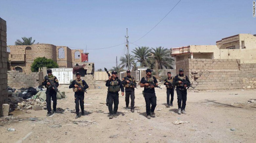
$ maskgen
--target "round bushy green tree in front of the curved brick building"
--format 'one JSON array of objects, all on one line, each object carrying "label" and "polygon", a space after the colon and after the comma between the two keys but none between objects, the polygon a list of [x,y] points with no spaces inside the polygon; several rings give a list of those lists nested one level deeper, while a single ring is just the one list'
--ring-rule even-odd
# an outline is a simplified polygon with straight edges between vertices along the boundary
[{"label": "round bushy green tree in front of the curved brick building", "polygon": [[42,68],[42,67],[58,68],[59,66],[52,59],[48,59],[46,57],[37,57],[34,59],[33,63],[31,64],[31,71],[38,72],[39,68]]}]

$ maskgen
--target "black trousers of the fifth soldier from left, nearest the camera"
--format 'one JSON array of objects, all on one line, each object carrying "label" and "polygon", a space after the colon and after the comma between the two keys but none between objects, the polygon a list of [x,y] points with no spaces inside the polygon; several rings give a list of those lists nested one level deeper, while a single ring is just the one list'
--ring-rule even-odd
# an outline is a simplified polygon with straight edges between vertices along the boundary
[{"label": "black trousers of the fifth soldier from left, nearest the camera", "polygon": [[[146,113],[147,115],[150,115],[150,112],[154,112],[157,106],[156,93],[144,92],[144,96],[145,96],[145,102],[146,102]],[[151,104],[151,108],[150,108],[150,104]]]}]

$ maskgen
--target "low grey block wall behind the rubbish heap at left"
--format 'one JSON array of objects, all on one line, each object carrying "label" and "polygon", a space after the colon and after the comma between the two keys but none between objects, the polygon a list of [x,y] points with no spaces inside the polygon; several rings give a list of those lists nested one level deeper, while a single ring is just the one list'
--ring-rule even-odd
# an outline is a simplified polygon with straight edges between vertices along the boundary
[{"label": "low grey block wall behind the rubbish heap at left", "polygon": [[8,71],[8,86],[19,89],[21,87],[38,87],[42,84],[43,72],[25,74],[19,71]]}]

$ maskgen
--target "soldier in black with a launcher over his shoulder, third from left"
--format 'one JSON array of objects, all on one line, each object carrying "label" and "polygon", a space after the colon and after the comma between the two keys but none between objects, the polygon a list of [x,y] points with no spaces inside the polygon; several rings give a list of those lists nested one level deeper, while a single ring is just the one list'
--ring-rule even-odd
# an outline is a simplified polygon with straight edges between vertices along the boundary
[{"label": "soldier in black with a launcher over his shoulder, third from left", "polygon": [[[122,92],[122,96],[124,96],[124,88],[122,82],[117,77],[117,72],[112,71],[112,76],[109,76],[109,80],[106,81],[106,87],[108,87],[108,110],[109,110],[109,119],[113,119],[113,117],[117,118],[117,109],[119,104],[119,94],[118,92]],[[113,102],[114,102],[114,111],[113,111]]]}]

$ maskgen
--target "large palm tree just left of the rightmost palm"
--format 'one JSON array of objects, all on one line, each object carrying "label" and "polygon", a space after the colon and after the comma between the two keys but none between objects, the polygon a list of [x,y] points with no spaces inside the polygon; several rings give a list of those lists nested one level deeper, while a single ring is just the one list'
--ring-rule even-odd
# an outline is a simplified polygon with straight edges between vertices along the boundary
[{"label": "large palm tree just left of the rightmost palm", "polygon": [[140,62],[141,67],[149,67],[152,60],[150,58],[151,56],[151,49],[149,47],[139,47],[135,48],[135,50],[132,51],[135,54],[135,58]]}]

